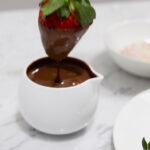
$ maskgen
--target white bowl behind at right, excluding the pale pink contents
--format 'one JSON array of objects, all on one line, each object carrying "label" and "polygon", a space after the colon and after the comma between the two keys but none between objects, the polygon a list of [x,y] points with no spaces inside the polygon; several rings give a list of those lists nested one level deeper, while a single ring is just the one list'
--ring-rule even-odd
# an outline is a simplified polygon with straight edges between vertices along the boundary
[{"label": "white bowl behind at right, excluding the pale pink contents", "polygon": [[126,21],[111,27],[105,36],[109,52],[118,66],[141,77],[150,77],[150,62],[120,54],[124,46],[150,39],[150,21]]}]

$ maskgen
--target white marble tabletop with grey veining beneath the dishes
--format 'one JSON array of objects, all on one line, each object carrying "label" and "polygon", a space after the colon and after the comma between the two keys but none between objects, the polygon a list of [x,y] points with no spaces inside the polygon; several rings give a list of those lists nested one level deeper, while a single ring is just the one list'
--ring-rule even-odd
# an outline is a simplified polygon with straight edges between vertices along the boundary
[{"label": "white marble tabletop with grey veining beneath the dishes", "polygon": [[121,108],[150,87],[149,79],[132,76],[108,56],[103,41],[106,29],[127,19],[149,19],[150,2],[99,3],[97,20],[72,56],[84,59],[104,74],[94,122],[68,136],[51,136],[32,129],[18,111],[18,85],[24,65],[44,50],[37,26],[37,10],[0,13],[0,150],[114,150],[112,128]]}]

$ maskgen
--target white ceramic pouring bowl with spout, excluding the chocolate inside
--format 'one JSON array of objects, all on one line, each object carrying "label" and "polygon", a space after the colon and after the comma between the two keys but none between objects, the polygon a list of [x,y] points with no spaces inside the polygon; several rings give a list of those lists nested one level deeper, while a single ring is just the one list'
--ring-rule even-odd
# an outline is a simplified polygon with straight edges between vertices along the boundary
[{"label": "white ceramic pouring bowl with spout, excluding the chocolate inside", "polygon": [[102,75],[93,71],[97,77],[82,84],[51,88],[34,83],[26,72],[25,68],[19,89],[19,103],[24,119],[32,127],[58,135],[76,132],[89,124],[99,100]]}]

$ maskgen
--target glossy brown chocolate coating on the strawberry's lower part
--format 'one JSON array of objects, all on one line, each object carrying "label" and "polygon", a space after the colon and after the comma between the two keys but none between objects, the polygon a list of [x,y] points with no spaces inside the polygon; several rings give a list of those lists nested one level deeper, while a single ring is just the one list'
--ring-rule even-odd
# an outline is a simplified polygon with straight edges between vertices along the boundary
[{"label": "glossy brown chocolate coating on the strawberry's lower part", "polygon": [[54,29],[44,26],[39,21],[39,29],[44,49],[47,55],[60,61],[70,53],[88,27],[75,29]]}]

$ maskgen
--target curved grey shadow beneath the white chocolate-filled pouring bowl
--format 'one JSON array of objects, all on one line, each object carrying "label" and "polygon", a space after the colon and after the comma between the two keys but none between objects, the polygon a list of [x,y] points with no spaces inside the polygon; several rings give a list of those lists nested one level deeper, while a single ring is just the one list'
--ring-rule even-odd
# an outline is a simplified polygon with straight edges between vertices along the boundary
[{"label": "curved grey shadow beneath the white chocolate-filled pouring bowl", "polygon": [[68,140],[72,140],[74,138],[78,138],[80,136],[83,136],[86,133],[86,128],[82,129],[81,131],[78,131],[76,133],[73,134],[68,134],[68,135],[50,135],[50,134],[45,134],[42,133],[34,128],[32,128],[22,117],[22,115],[18,112],[17,114],[17,124],[19,126],[19,128],[21,129],[22,132],[26,133],[27,135],[29,135],[32,138],[38,138],[40,140],[46,140],[46,141],[68,141]]}]

